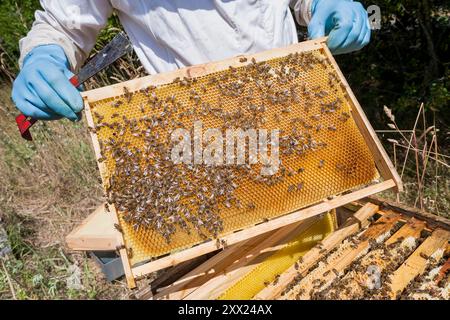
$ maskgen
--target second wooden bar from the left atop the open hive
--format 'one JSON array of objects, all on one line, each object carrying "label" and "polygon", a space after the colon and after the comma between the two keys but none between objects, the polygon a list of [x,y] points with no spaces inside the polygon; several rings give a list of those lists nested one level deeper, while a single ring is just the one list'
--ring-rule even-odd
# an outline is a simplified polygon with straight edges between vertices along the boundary
[{"label": "second wooden bar from the left atop the open hive", "polygon": [[[358,255],[370,247],[369,240],[383,237],[399,220],[400,215],[396,213],[389,212],[384,214],[358,237],[361,242],[356,247],[353,248],[349,243],[341,245],[336,252],[327,257],[326,264],[321,264],[309,272],[293,290],[283,296],[283,299],[309,299],[313,289],[323,290],[328,287]],[[323,282],[320,288],[315,288],[315,280]]]}]

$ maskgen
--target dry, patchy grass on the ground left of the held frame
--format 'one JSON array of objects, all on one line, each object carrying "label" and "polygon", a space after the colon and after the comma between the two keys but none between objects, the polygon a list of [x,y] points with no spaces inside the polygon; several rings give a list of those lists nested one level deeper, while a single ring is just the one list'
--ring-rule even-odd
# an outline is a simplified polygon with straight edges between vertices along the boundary
[{"label": "dry, patchy grass on the ground left of the held frame", "polygon": [[[84,121],[41,123],[25,142],[14,123],[10,87],[0,90],[0,225],[12,248],[0,268],[0,299],[126,297],[64,237],[102,202]],[[73,281],[70,281],[73,280]]]}]

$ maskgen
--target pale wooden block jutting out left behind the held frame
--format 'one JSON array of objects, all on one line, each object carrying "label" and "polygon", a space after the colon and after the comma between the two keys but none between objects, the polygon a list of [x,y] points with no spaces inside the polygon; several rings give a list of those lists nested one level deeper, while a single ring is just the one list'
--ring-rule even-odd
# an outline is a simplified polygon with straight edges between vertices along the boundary
[{"label": "pale wooden block jutting out left behind the held frame", "polygon": [[66,236],[71,250],[112,251],[117,247],[117,235],[111,218],[101,205]]}]

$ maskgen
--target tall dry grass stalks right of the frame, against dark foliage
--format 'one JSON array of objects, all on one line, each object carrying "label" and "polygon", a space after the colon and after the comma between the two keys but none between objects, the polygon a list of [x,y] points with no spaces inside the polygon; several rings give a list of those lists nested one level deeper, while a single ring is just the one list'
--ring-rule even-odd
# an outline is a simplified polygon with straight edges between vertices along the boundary
[{"label": "tall dry grass stalks right of the frame, against dark foliage", "polygon": [[[386,141],[392,147],[391,157],[405,186],[405,192],[397,195],[395,200],[449,217],[450,156],[439,146],[439,135],[446,133],[435,126],[435,114],[432,114],[433,123],[430,125],[430,117],[421,104],[414,126],[403,130],[388,107],[384,107],[384,112],[391,130],[384,130],[383,133],[388,136]],[[390,194],[385,196],[392,198]]]}]

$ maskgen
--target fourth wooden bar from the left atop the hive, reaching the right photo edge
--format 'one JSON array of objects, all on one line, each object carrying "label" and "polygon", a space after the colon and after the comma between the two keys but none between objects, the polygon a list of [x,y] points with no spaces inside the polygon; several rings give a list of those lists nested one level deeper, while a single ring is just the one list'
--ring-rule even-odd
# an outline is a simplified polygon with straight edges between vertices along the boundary
[{"label": "fourth wooden bar from the left atop the hive, reaching the right photo edge", "polygon": [[433,255],[436,251],[444,250],[450,239],[450,232],[443,229],[433,231],[414,253],[391,275],[390,297],[395,299],[406,286],[418,275],[421,275],[427,267],[426,256]]}]

